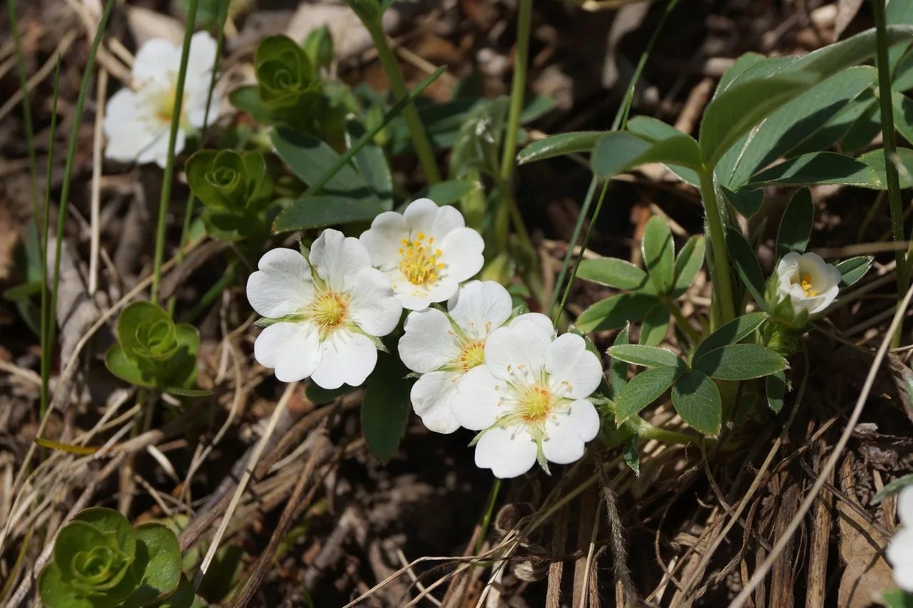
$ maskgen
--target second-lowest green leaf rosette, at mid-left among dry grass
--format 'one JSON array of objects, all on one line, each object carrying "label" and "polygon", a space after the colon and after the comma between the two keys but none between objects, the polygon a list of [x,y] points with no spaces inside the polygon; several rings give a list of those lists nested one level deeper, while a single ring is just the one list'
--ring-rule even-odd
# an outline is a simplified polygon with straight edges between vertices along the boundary
[{"label": "second-lowest green leaf rosette, at mid-left among dry grass", "polygon": [[188,396],[196,378],[200,334],[189,323],[175,323],[152,302],[133,302],[117,320],[118,343],[105,353],[105,364],[121,380]]}]

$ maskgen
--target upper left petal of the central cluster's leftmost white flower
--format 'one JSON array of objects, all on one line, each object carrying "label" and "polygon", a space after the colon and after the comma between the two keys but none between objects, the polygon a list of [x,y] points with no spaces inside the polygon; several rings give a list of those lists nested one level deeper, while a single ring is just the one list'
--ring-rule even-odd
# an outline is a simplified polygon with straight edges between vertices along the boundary
[{"label": "upper left petal of the central cluster's leftmost white flower", "polygon": [[310,305],[314,286],[308,260],[294,249],[271,249],[260,258],[260,269],[247,279],[247,300],[257,314],[279,319]]}]

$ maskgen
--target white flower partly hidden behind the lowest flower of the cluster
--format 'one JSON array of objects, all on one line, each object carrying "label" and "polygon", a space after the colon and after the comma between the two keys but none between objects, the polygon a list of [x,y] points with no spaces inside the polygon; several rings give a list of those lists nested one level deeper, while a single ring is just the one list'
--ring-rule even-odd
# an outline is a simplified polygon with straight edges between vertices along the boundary
[{"label": "white flower partly hidden behind the lowest flower of the cluster", "polygon": [[488,334],[513,312],[508,290],[495,281],[470,281],[438,309],[414,310],[405,320],[399,342],[400,359],[421,377],[412,387],[412,406],[436,433],[459,428],[451,412],[456,386],[469,370],[481,365]]}]

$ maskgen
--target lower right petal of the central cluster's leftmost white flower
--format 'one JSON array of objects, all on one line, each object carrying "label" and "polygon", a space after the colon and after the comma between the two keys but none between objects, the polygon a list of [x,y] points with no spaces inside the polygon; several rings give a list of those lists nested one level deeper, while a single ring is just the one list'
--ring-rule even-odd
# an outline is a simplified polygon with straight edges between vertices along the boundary
[{"label": "lower right petal of the central cluster's leftmost white flower", "polygon": [[323,361],[310,379],[325,389],[342,384],[359,386],[367,380],[377,364],[377,348],[360,333],[335,330],[322,343]]}]

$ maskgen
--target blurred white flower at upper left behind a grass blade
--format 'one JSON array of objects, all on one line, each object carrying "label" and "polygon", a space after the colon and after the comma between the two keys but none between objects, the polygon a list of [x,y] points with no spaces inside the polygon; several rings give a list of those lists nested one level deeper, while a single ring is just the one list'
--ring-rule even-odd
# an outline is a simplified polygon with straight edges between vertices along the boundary
[{"label": "blurred white flower at upper left behind a grass blade", "polygon": [[[216,44],[208,32],[190,40],[181,126],[174,153],[184,150],[187,132],[203,127]],[[153,38],[140,47],[133,60],[133,89],[121,89],[108,100],[104,131],[108,138],[105,158],[121,162],[156,162],[165,166],[168,136],[174,109],[181,48],[163,38]],[[218,115],[215,99],[209,117]]]}]

